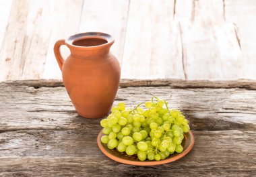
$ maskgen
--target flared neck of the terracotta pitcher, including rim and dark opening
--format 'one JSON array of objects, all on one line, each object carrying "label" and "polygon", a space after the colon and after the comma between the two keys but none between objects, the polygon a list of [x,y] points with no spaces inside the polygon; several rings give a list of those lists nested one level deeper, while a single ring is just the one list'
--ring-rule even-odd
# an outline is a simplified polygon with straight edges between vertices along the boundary
[{"label": "flared neck of the terracotta pitcher, including rim and dark opening", "polygon": [[99,32],[75,34],[65,40],[71,56],[78,58],[107,55],[114,42],[112,36]]}]

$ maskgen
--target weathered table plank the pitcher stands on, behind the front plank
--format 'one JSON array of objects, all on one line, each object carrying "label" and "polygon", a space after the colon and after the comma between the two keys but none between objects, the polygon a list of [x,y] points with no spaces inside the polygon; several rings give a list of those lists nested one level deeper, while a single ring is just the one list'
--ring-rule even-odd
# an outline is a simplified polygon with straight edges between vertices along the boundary
[{"label": "weathered table plank the pitcher stands on, behind the front plank", "polygon": [[[0,87],[2,132],[19,129],[83,129],[83,126],[93,126],[95,123],[75,113],[63,87],[36,89],[34,86],[11,83],[2,83]],[[125,101],[129,107],[134,107],[152,95],[166,98],[172,107],[181,109],[191,121],[192,129],[256,127],[256,91],[244,88],[124,87],[119,88],[115,103]]]}]

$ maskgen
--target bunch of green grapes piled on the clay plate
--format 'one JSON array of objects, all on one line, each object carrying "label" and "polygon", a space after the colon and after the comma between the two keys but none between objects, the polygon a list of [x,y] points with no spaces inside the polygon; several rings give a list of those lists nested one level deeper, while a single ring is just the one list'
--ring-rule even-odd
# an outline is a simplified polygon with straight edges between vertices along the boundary
[{"label": "bunch of green grapes piled on the clay plate", "polygon": [[[143,105],[145,108],[141,107]],[[119,103],[112,113],[100,121],[103,127],[102,143],[116,148],[139,160],[164,160],[174,152],[183,152],[184,135],[189,131],[189,121],[181,111],[168,109],[165,100],[152,97],[135,107],[126,109]]]}]

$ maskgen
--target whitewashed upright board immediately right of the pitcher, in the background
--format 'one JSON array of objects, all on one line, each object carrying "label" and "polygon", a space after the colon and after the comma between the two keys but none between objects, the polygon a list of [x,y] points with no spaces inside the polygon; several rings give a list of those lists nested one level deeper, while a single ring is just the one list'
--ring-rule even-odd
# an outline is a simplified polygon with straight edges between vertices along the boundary
[{"label": "whitewashed upright board immediately right of the pitcher, in the background", "polygon": [[131,0],[122,78],[185,78],[173,9],[174,1]]}]

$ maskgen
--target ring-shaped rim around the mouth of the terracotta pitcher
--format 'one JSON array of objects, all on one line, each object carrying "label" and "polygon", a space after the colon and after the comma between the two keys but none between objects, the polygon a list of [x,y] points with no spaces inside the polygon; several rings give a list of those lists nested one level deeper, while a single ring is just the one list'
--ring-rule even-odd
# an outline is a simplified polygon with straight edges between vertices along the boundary
[{"label": "ring-shaped rim around the mouth of the terracotta pitcher", "polygon": [[[97,46],[76,46],[73,44],[78,40],[88,39],[88,38],[106,40],[106,43],[100,44]],[[106,34],[102,32],[85,32],[85,33],[74,34],[72,36],[69,36],[69,38],[65,40],[65,44],[69,48],[75,48],[78,50],[84,50],[84,49],[92,50],[92,49],[105,48],[106,46],[111,46],[114,42],[115,40],[110,34]]]}]

